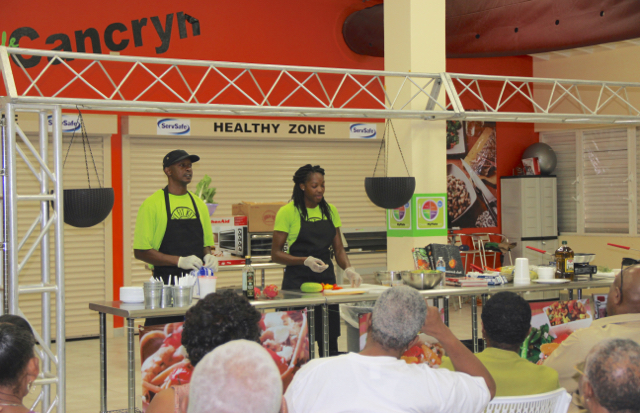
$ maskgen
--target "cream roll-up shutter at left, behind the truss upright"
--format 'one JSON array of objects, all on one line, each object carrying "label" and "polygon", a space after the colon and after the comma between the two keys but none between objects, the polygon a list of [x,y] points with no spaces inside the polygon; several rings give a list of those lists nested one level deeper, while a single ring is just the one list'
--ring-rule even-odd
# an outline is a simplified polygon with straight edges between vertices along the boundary
[{"label": "cream roll-up shutter at left, behind the truss upright", "polygon": [[[39,139],[30,136],[32,144],[38,148]],[[103,150],[103,137],[92,136],[89,138],[91,144],[91,153],[95,159],[97,172],[100,175],[100,181],[105,185],[105,154]],[[64,153],[71,141],[71,136],[65,134],[63,137]],[[26,145],[18,144],[27,154],[30,162],[39,170],[38,162],[31,155]],[[51,159],[53,151],[52,145],[49,143],[49,165],[53,165]],[[89,148],[86,148],[87,162],[89,172],[91,174],[91,187],[98,187],[96,173],[91,161]],[[71,146],[67,161],[64,167],[63,183],[65,189],[88,188],[87,172],[85,166],[85,152],[83,150],[82,139],[76,136]],[[29,171],[27,165],[22,161],[17,162],[18,176],[17,185],[18,193],[34,194],[39,191],[39,183]],[[110,182],[110,181],[109,181]],[[34,219],[40,213],[40,204],[35,202],[19,202],[18,207],[18,240],[22,240],[27,233]],[[107,263],[107,236],[106,226],[107,220],[91,228],[75,228],[64,225],[64,263],[65,263],[65,319],[67,338],[97,336],[98,331],[98,314],[89,310],[90,302],[99,302],[105,300],[105,289],[107,279],[111,280],[111,265]],[[39,228],[39,226],[38,226]],[[31,244],[37,238],[38,231],[34,231],[31,237],[23,246],[19,253],[19,259],[22,260]],[[111,251],[111,248],[108,248]],[[53,265],[54,258],[53,233],[50,234],[50,256],[51,256],[51,281],[55,282],[55,269]],[[20,284],[36,284],[41,282],[40,271],[40,248],[34,252],[32,258],[20,272]],[[110,260],[109,260],[110,261]],[[107,265],[108,264],[108,265]],[[109,281],[110,282],[110,281]],[[20,295],[20,309],[29,319],[29,321],[40,331],[41,329],[41,298],[40,294],[23,294]],[[51,299],[55,303],[53,295]],[[55,306],[51,306],[52,334],[55,334]]]}]

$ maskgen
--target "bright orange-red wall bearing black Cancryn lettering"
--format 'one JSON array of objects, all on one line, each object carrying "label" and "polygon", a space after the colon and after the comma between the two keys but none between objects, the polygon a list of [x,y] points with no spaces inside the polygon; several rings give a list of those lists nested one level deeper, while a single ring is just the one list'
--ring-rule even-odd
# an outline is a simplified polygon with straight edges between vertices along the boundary
[{"label": "bright orange-red wall bearing black Cancryn lettering", "polygon": [[[25,28],[23,33],[37,33],[39,37],[33,40],[22,37],[19,41],[21,48],[53,49],[62,46],[68,38],[67,46],[71,51],[78,51],[80,44],[80,48],[93,52],[90,38],[80,43],[76,40],[76,33],[82,37],[91,33],[89,29],[93,28],[101,53],[110,52],[109,43],[112,49],[120,49],[118,51],[122,55],[382,70],[383,58],[353,53],[344,43],[341,32],[346,16],[379,3],[382,0],[18,1],[10,5],[10,13],[0,14],[0,31],[5,31],[7,38],[19,28]],[[180,23],[179,12],[199,20],[199,35],[194,35],[191,24]],[[172,30],[163,47],[156,26],[161,31],[166,30],[167,16],[172,16],[169,17]],[[144,19],[146,25],[142,26]],[[154,25],[153,21],[157,24]],[[186,29],[182,38],[181,24]],[[141,27],[137,46],[135,25]],[[108,28],[117,30],[106,35]],[[47,44],[47,39],[50,44]],[[36,68],[44,64],[43,59]],[[447,71],[461,73],[532,76],[532,67],[530,57],[447,60]],[[14,70],[17,69],[14,65]],[[40,85],[46,87],[46,79],[42,79]],[[0,89],[3,87],[1,85]],[[499,90],[493,90],[485,97],[496,98],[498,93]],[[473,104],[472,101],[466,103]],[[517,109],[523,105],[526,107],[527,103],[516,100],[511,107]],[[499,123],[497,138],[499,176],[510,175],[524,149],[538,141],[532,124]],[[112,180],[116,191],[113,212],[114,299],[118,299],[118,287],[123,282],[122,147],[119,134],[113,137],[111,149]],[[116,327],[121,325],[117,320]]]}]

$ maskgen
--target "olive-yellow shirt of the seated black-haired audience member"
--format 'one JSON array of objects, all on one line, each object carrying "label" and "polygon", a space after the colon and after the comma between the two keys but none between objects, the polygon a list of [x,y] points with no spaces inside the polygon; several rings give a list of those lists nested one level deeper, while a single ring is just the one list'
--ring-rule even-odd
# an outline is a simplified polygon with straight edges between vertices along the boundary
[{"label": "olive-yellow shirt of the seated black-haired audience member", "polygon": [[[489,347],[476,357],[496,382],[496,397],[528,396],[560,388],[557,371],[533,364],[514,351]],[[442,358],[440,368],[455,371],[449,357]]]}]

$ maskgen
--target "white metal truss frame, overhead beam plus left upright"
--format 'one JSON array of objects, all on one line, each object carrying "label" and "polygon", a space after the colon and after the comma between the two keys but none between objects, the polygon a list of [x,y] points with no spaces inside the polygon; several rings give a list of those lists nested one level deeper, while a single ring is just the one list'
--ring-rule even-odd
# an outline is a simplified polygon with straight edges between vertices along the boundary
[{"label": "white metal truss frame, overhead beam plus left upright", "polygon": [[[23,56],[37,58],[25,69]],[[12,66],[13,60],[15,66]],[[571,124],[638,124],[640,110],[630,95],[640,83],[559,80],[455,73],[403,73],[321,67],[281,66],[202,60],[159,59],[44,51],[0,46],[4,183],[4,269],[6,311],[21,314],[19,296],[42,295],[43,360],[38,379],[42,411],[65,411],[64,246],[61,109],[204,114],[416,120],[483,120]],[[389,92],[386,85],[393,85]],[[497,89],[496,89],[497,88]],[[499,90],[499,96],[494,96]],[[524,108],[509,111],[510,105]],[[39,152],[14,119],[16,111],[39,113]],[[53,170],[47,165],[47,114],[53,116]],[[32,165],[17,138],[38,160]],[[20,156],[39,180],[38,194],[18,194]],[[39,170],[38,170],[39,168]],[[49,185],[53,185],[53,194]],[[40,202],[40,216],[20,242],[18,202]],[[49,216],[49,202],[54,212]],[[40,226],[22,262],[18,252]],[[50,231],[55,231],[55,283],[49,273]],[[20,285],[19,273],[40,245],[42,282]],[[1,266],[1,265],[0,265]],[[56,294],[56,354],[51,350],[51,293]],[[0,311],[1,313],[2,311]],[[52,367],[53,366],[53,367]],[[51,384],[57,384],[51,401]]]}]

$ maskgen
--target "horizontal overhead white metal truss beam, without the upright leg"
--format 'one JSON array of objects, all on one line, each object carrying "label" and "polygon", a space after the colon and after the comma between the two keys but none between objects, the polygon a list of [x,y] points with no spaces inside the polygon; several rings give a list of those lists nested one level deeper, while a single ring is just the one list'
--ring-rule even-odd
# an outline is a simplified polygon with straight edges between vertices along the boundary
[{"label": "horizontal overhead white metal truss beam, without the upright leg", "polygon": [[[27,70],[23,55],[41,61]],[[640,92],[640,83],[630,82],[280,66],[4,46],[0,46],[0,70],[12,102],[63,108],[228,116],[640,123],[640,110],[629,98]],[[388,93],[385,84],[392,82],[399,87]],[[488,98],[495,95],[490,90],[499,90],[499,96]],[[525,109],[509,111],[513,103]]]}]

